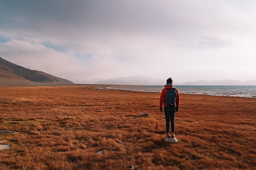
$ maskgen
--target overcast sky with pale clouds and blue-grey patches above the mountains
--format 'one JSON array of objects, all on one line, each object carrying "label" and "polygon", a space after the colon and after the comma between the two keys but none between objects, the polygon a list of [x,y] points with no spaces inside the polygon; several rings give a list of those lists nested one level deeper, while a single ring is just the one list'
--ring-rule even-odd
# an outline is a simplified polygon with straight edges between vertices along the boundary
[{"label": "overcast sky with pale clouds and blue-grey patches above the mountains", "polygon": [[0,57],[71,81],[256,79],[255,0],[0,0]]}]

